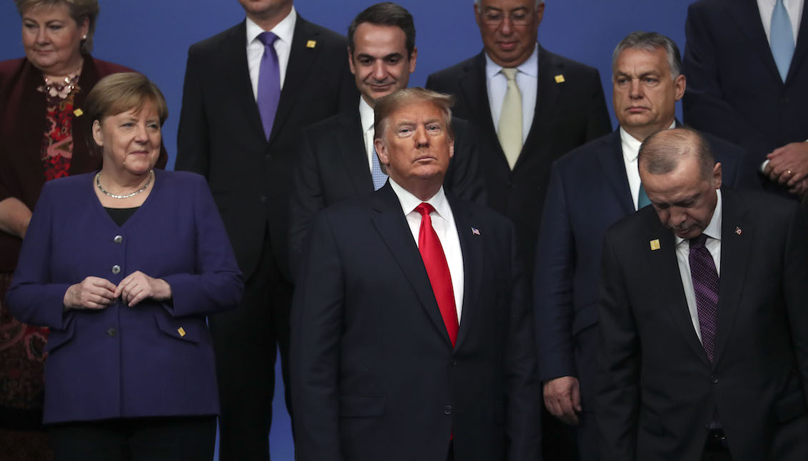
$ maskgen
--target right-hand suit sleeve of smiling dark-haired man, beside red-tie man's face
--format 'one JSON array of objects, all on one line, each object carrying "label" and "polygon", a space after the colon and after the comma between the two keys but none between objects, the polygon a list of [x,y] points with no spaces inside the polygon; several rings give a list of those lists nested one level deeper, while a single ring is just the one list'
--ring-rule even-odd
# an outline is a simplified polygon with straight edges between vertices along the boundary
[{"label": "right-hand suit sleeve of smiling dark-haired man, beside red-tie man's face", "polygon": [[470,126],[467,121],[455,119],[455,151],[444,186],[457,197],[485,205],[486,191],[480,171],[477,136]]}]

